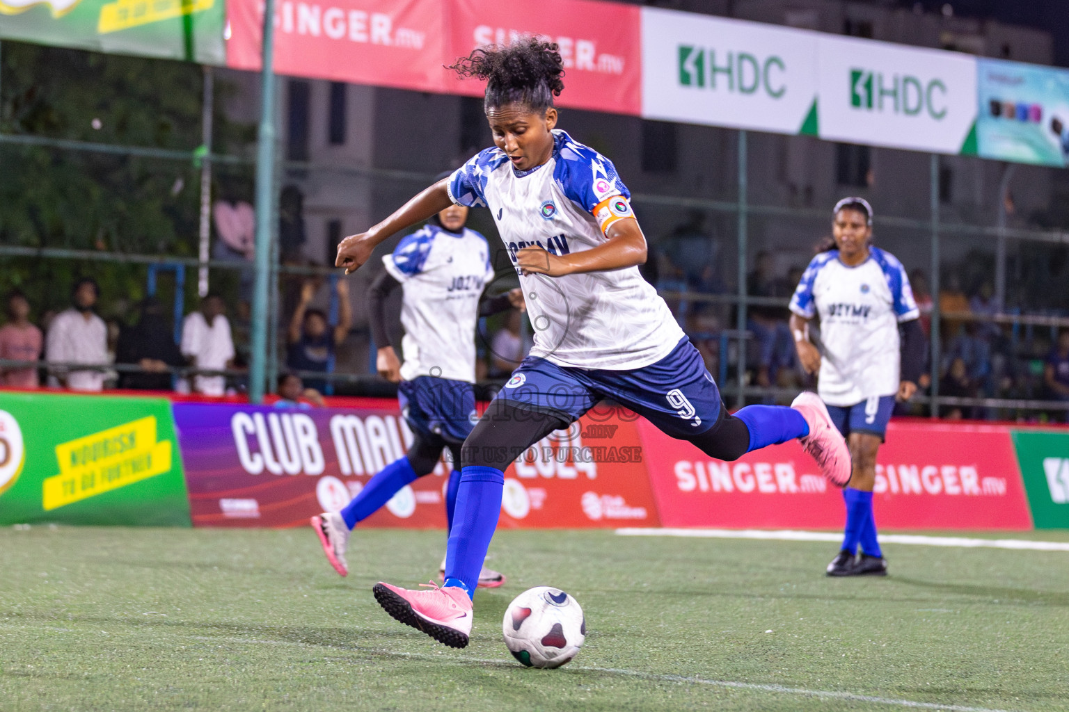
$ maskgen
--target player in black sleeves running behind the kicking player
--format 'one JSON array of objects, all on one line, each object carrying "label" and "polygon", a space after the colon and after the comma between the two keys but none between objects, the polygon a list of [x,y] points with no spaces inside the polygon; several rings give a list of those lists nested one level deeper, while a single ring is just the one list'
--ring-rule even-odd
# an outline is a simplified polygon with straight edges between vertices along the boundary
[{"label": "player in black sleeves running behind the kicking player", "polygon": [[[467,207],[450,205],[432,216],[425,227],[403,238],[392,254],[383,257],[386,270],[371,285],[371,330],[378,344],[376,367],[383,378],[398,383],[398,400],[413,432],[413,444],[404,457],[368,480],[341,511],[312,517],[323,552],[343,576],[348,573],[345,550],[353,527],[400,489],[433,472],[447,447],[453,471],[446,486],[446,519],[452,527],[461,481],[461,445],[477,417],[471,389],[476,322],[480,316],[524,306],[520,289],[480,304],[479,297],[493,281],[494,269],[486,238],[464,226],[467,215]],[[387,327],[397,321],[396,314],[387,317],[387,304],[398,288],[403,290],[403,364],[390,345]],[[445,568],[443,560],[443,571]],[[502,583],[503,575],[486,568],[477,581],[487,588]]]}]

